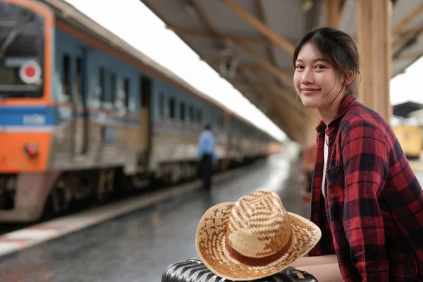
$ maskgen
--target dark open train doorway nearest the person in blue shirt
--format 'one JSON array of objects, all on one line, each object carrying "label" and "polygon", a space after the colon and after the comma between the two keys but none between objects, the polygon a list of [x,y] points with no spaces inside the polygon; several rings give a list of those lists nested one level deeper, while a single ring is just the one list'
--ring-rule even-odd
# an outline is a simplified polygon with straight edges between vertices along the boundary
[{"label": "dark open train doorway nearest the person in blue shirt", "polygon": [[142,150],[142,166],[147,169],[149,164],[149,152],[151,147],[151,96],[152,81],[145,77],[140,77],[140,134],[141,134],[141,150]]}]

